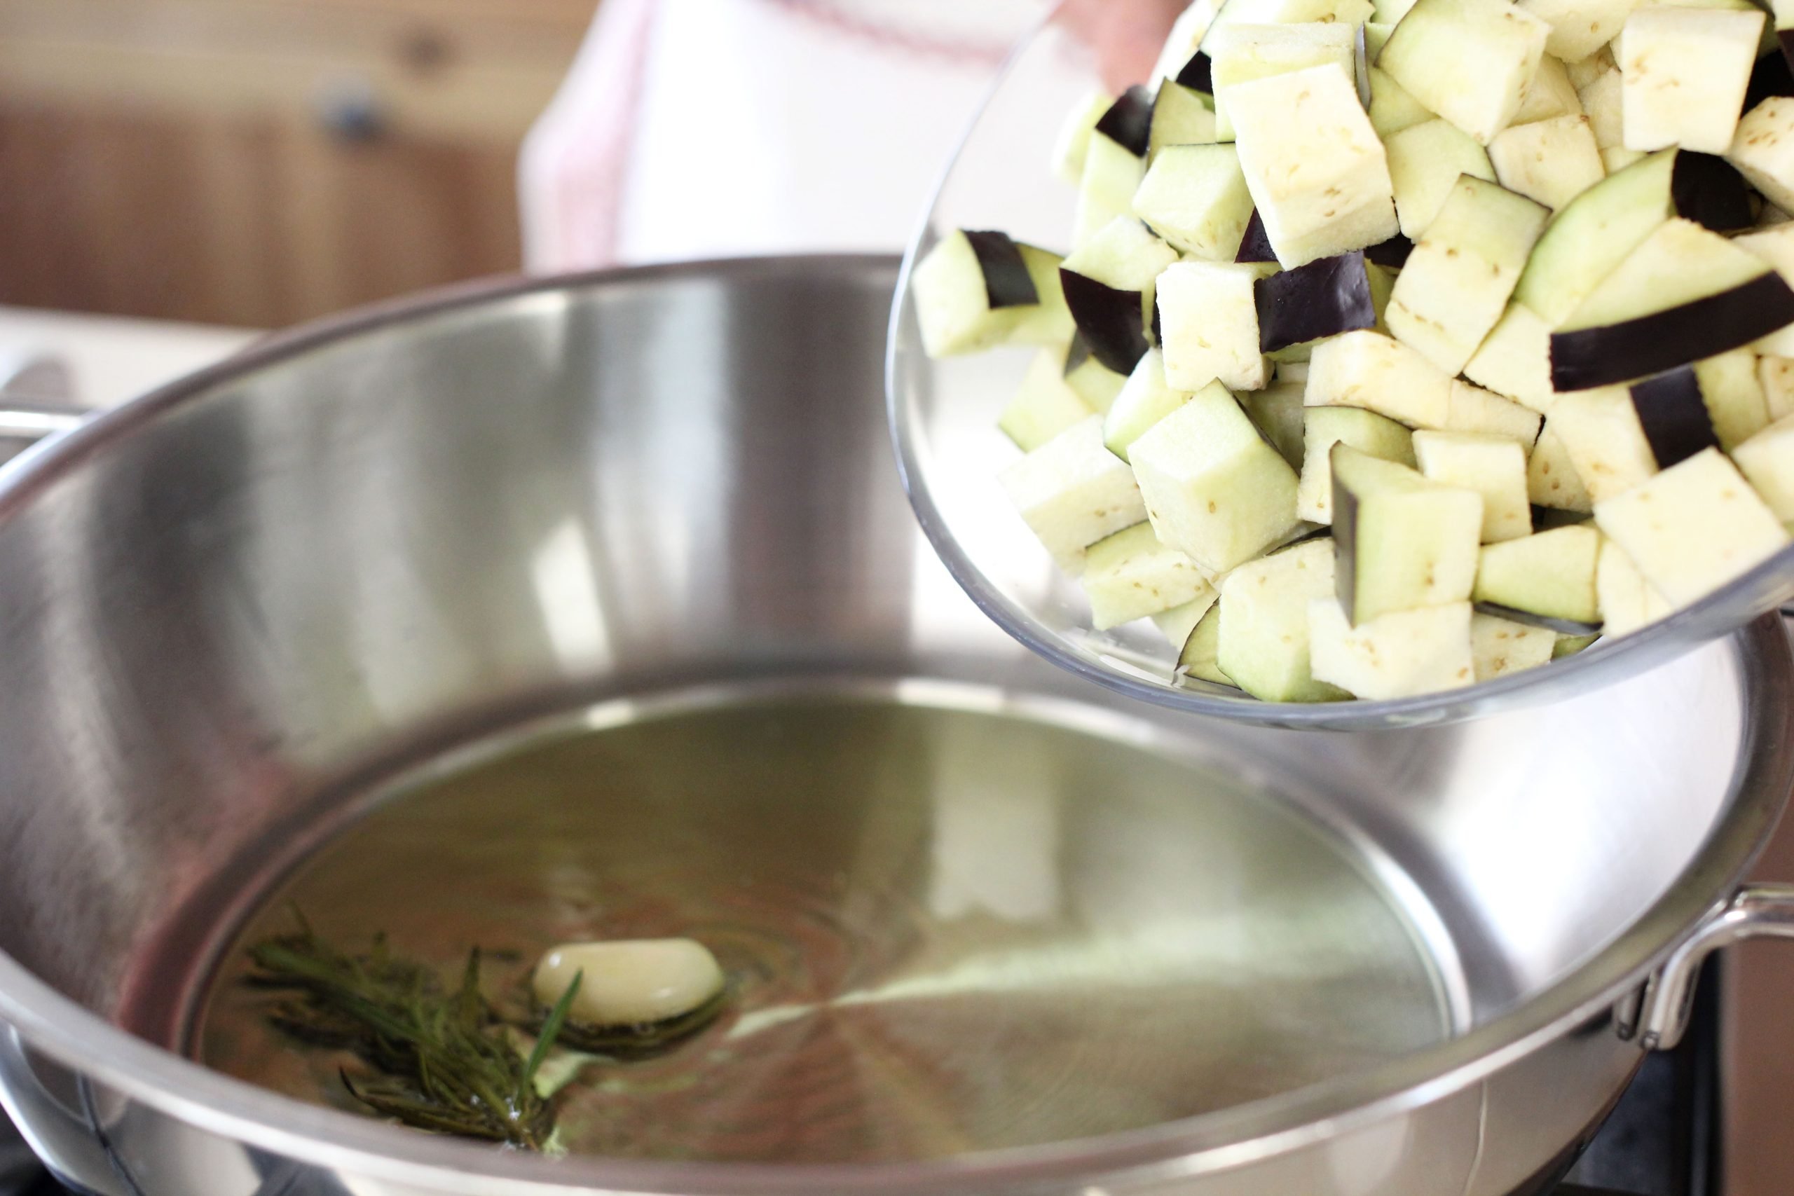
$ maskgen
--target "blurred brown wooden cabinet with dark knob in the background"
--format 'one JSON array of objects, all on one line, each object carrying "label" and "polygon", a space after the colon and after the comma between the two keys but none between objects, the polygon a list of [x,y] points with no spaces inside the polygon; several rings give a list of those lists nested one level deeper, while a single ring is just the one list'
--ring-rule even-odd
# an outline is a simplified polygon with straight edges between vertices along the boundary
[{"label": "blurred brown wooden cabinet with dark knob in the background", "polygon": [[596,0],[0,0],[0,303],[280,326],[513,271]]}]

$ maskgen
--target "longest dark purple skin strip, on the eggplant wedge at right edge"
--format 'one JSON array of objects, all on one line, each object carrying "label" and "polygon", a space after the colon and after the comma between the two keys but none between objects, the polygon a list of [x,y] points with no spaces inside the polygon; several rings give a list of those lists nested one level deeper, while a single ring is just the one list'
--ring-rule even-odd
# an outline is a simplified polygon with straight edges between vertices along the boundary
[{"label": "longest dark purple skin strip, on the eggplant wedge at right edge", "polygon": [[1638,319],[1552,334],[1552,389],[1649,378],[1717,357],[1794,325],[1794,290],[1774,271],[1719,294]]}]

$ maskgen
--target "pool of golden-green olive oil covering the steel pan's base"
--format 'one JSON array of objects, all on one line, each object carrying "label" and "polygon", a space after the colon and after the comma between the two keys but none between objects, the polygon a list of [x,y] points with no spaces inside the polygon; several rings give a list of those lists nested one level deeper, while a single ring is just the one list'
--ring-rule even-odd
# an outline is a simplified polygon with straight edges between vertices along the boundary
[{"label": "pool of golden-green olive oil covering the steel pan's base", "polygon": [[239,983],[292,907],[346,947],[386,931],[445,977],[479,945],[492,993],[554,943],[689,936],[728,972],[727,1010],[657,1058],[578,1067],[567,1149],[1039,1144],[1446,1036],[1433,959],[1369,875],[1238,778],[1085,730],[865,698],[694,706],[533,735],[377,805],[242,927],[196,1044],[357,1108],[344,1058],[280,1038]]}]

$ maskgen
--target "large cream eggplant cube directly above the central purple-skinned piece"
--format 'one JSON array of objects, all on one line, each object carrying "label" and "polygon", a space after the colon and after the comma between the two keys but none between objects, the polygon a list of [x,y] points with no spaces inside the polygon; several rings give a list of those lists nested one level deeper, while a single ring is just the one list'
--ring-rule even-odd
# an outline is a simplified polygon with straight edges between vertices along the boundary
[{"label": "large cream eggplant cube directly above the central purple-skinned piece", "polygon": [[1285,269],[1394,237],[1394,186],[1358,90],[1333,66],[1234,84],[1240,165]]}]

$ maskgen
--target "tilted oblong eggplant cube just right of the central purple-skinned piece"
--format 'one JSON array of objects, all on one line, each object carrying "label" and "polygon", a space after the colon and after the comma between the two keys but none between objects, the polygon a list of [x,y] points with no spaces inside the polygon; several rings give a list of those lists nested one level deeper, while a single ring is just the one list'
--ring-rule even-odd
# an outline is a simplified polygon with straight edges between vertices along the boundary
[{"label": "tilted oblong eggplant cube just right of the central purple-skinned piece", "polygon": [[1460,373],[1507,310],[1548,215],[1496,183],[1459,178],[1396,278],[1389,330],[1444,373]]}]

